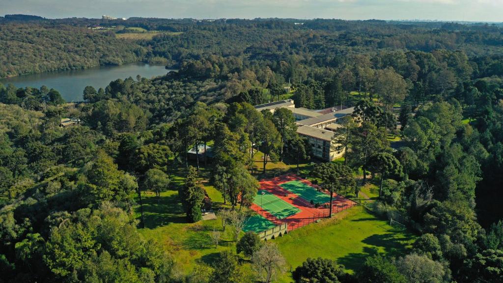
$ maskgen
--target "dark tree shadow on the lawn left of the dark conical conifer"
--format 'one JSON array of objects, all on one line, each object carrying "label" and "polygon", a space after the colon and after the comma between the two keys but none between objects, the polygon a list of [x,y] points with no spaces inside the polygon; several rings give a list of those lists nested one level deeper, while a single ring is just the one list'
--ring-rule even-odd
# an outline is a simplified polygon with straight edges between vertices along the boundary
[{"label": "dark tree shadow on the lawn left of the dark conical conifer", "polygon": [[[140,208],[138,207],[139,211]],[[143,214],[145,228],[154,229],[173,223],[187,223],[182,204],[177,194],[161,196],[159,203],[157,197],[143,198]]]}]

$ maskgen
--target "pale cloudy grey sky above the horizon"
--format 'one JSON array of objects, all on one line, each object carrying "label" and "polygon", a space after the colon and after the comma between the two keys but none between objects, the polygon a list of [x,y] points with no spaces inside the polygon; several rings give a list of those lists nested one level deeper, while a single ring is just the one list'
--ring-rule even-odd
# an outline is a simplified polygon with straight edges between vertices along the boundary
[{"label": "pale cloudy grey sky above the horizon", "polygon": [[5,14],[503,22],[503,0],[0,0]]}]

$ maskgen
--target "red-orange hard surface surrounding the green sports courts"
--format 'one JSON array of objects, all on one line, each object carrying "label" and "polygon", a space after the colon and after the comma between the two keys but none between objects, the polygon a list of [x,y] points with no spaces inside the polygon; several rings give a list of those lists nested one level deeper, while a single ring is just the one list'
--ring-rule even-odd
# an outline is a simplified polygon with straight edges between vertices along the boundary
[{"label": "red-orange hard surface surrounding the green sports courts", "polygon": [[[282,223],[288,223],[288,230],[294,230],[300,228],[309,223],[313,223],[321,218],[328,217],[329,209],[323,208],[322,206],[316,208],[313,204],[309,203],[308,200],[301,198],[300,196],[287,191],[280,187],[279,185],[290,182],[290,181],[301,181],[313,188],[320,188],[318,185],[312,184],[309,180],[302,179],[295,174],[282,175],[271,179],[261,180],[260,189],[267,190],[277,197],[283,199],[284,201],[298,207],[301,211],[295,215],[287,217],[285,219],[277,219],[270,213],[268,213],[265,209],[262,209],[260,206],[253,204],[250,206],[251,209],[255,210],[258,214],[267,218],[269,221],[273,222],[276,225],[280,225]],[[330,192],[321,190],[321,192],[330,195]],[[332,214],[336,214],[344,209],[355,206],[357,203],[345,198],[342,195],[337,193],[333,193],[333,201],[332,201]]]}]

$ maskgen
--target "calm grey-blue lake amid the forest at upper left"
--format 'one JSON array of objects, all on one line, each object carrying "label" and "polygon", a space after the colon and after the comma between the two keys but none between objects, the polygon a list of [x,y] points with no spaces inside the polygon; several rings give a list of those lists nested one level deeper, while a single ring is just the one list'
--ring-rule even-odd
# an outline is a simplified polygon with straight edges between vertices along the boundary
[{"label": "calm grey-blue lake amid the forest at upper left", "polygon": [[165,75],[172,70],[174,69],[164,68],[164,65],[131,63],[121,66],[99,66],[81,70],[23,75],[0,79],[0,83],[6,86],[13,84],[18,88],[46,86],[59,91],[66,101],[82,101],[82,92],[87,86],[93,86],[98,90],[117,79],[132,77],[136,80],[136,75],[150,79]]}]

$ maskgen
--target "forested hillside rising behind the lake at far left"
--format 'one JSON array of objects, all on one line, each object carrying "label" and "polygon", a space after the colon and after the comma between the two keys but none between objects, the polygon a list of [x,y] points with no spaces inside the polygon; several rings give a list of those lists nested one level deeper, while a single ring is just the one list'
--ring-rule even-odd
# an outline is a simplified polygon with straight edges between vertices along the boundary
[{"label": "forested hillside rising behind the lake at far left", "polygon": [[0,77],[121,65],[142,60],[146,48],[114,34],[67,25],[0,25]]}]

